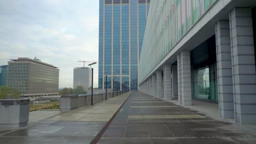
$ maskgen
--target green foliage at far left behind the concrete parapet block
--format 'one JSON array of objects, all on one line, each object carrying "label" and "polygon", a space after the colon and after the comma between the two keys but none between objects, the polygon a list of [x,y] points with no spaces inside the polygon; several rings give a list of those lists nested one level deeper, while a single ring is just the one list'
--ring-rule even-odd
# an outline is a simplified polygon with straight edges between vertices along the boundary
[{"label": "green foliage at far left behind the concrete parapet block", "polygon": [[21,92],[7,86],[0,86],[0,99],[20,99]]}]

